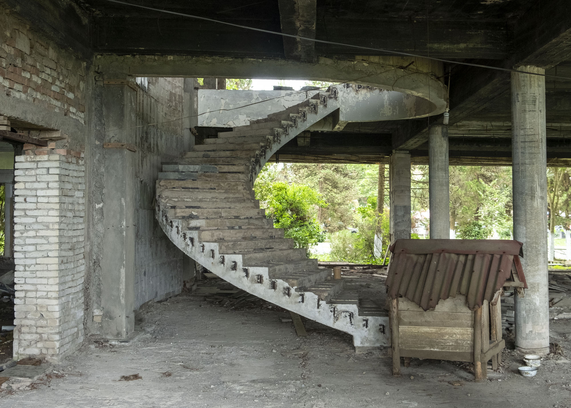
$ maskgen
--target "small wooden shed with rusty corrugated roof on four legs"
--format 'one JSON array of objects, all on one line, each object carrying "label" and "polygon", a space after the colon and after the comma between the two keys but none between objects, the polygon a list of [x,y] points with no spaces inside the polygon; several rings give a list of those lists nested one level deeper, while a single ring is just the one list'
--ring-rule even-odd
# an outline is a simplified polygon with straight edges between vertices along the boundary
[{"label": "small wooden shed with rusty corrugated roof on four legs", "polygon": [[476,380],[501,362],[505,347],[500,294],[526,288],[521,242],[493,239],[398,239],[387,277],[393,375],[400,357],[474,363]]}]

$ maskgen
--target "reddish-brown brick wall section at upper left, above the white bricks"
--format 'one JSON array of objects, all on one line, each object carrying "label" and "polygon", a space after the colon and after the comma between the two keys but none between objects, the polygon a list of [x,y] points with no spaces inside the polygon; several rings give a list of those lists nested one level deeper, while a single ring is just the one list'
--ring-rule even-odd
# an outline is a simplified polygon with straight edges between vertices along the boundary
[{"label": "reddish-brown brick wall section at upper left, above the white bricks", "polygon": [[84,123],[86,63],[2,7],[0,27],[0,92]]}]

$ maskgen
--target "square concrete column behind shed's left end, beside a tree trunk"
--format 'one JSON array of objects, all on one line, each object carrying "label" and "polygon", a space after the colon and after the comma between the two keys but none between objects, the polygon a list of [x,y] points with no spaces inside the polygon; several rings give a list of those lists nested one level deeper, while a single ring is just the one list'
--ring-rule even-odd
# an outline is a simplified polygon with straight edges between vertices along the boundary
[{"label": "square concrete column behind shed's left end, beside a tree trunk", "polygon": [[389,229],[391,243],[411,238],[411,154],[393,150],[389,159]]}]

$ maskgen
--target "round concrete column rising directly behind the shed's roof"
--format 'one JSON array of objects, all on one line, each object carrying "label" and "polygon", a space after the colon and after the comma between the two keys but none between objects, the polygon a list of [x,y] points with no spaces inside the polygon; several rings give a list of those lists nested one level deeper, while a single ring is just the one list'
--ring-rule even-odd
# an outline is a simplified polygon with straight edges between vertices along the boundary
[{"label": "round concrete column rising directly behind the shed's roof", "polygon": [[433,125],[428,134],[428,194],[430,237],[450,238],[450,180],[448,126]]}]

